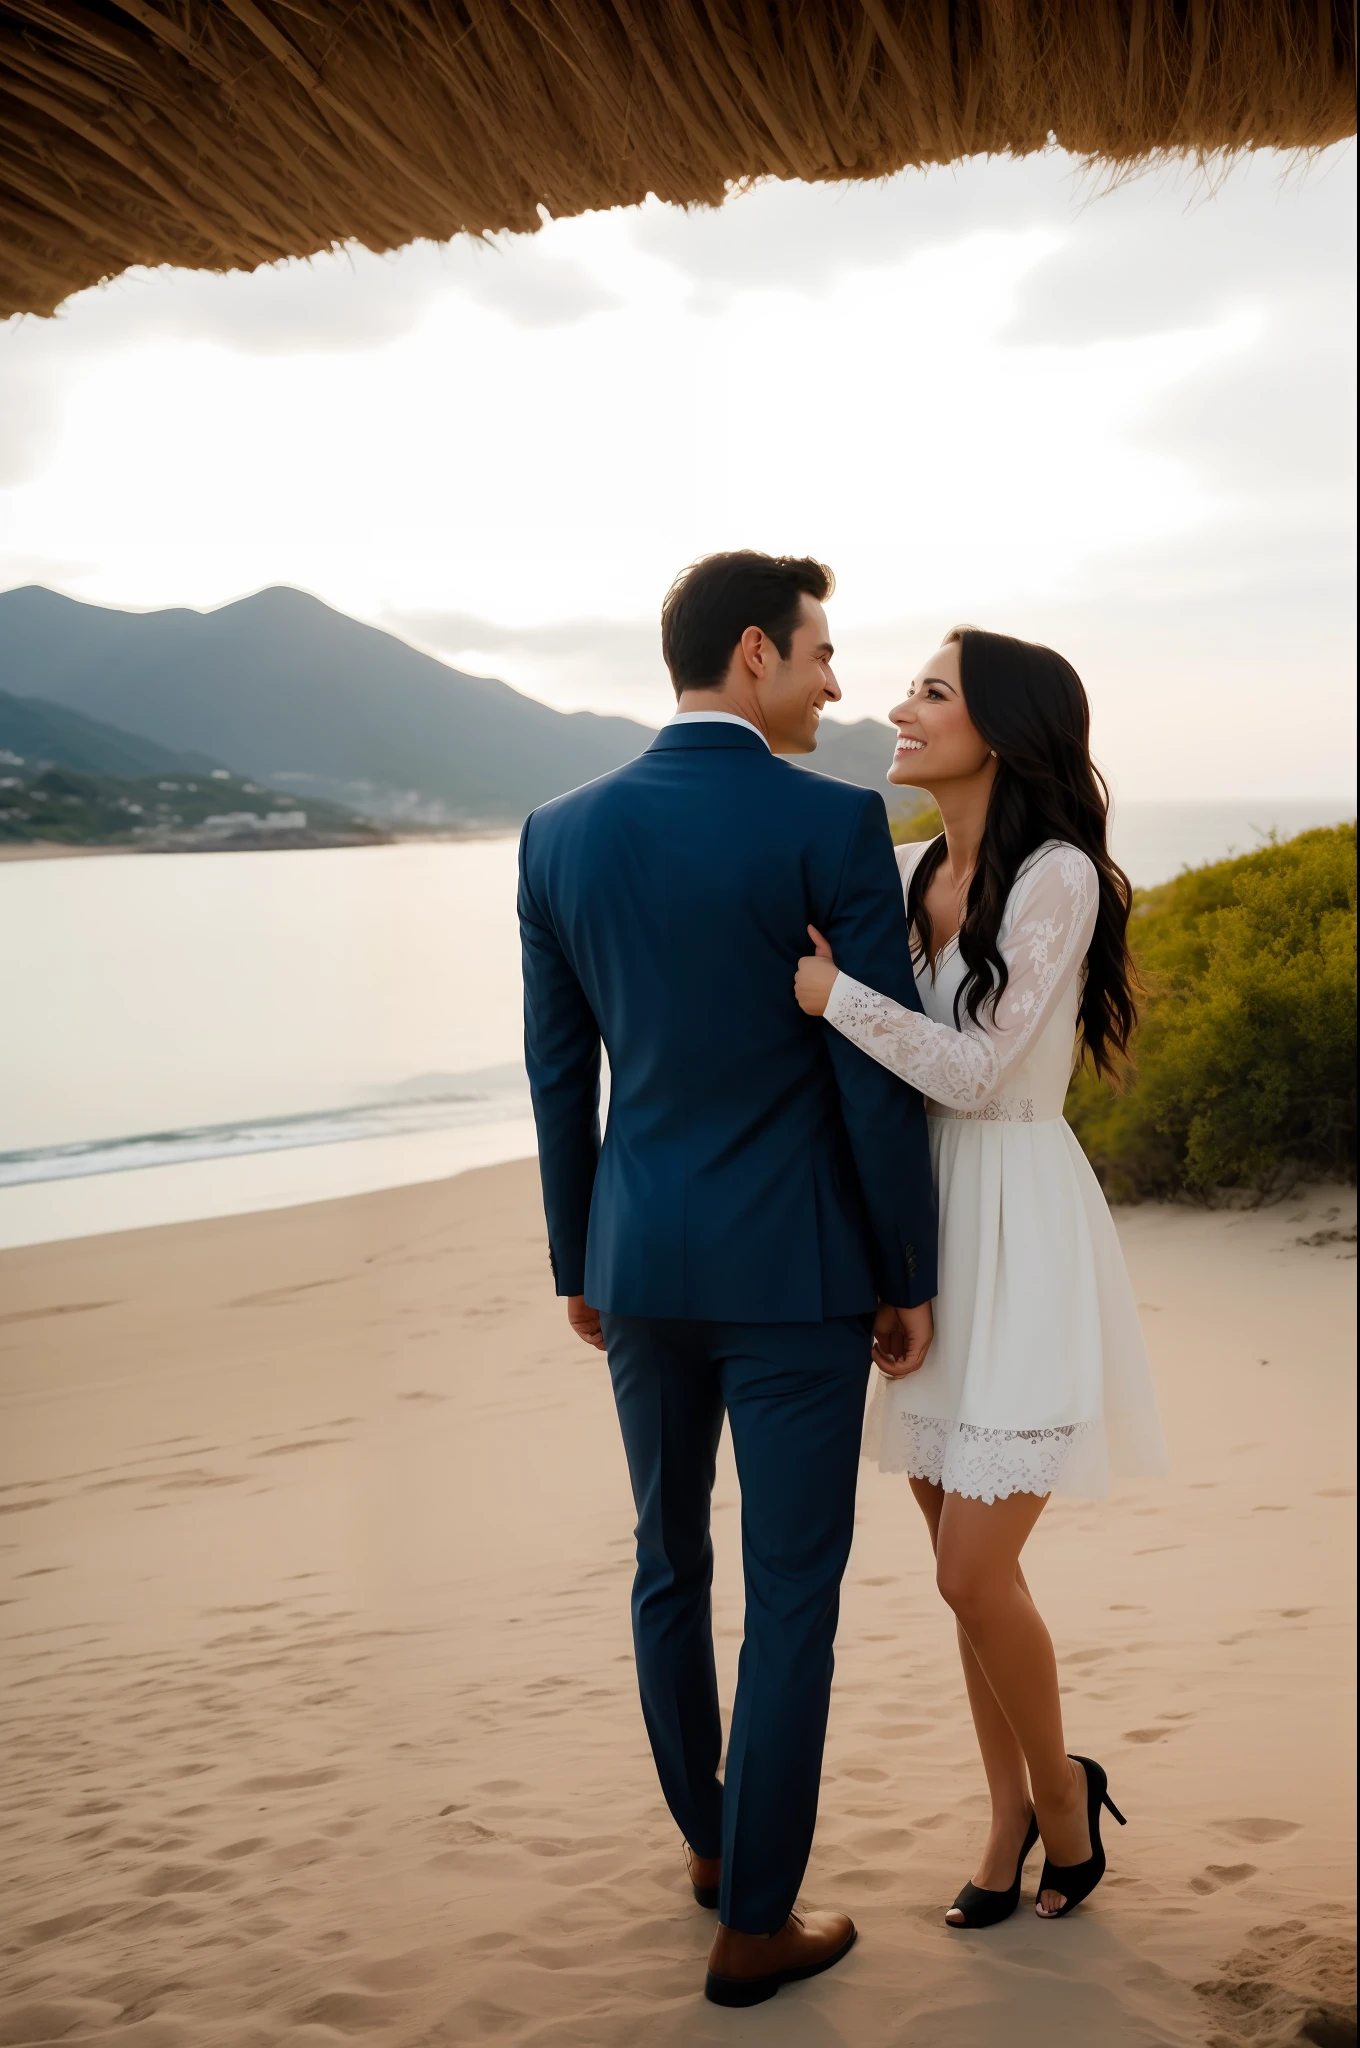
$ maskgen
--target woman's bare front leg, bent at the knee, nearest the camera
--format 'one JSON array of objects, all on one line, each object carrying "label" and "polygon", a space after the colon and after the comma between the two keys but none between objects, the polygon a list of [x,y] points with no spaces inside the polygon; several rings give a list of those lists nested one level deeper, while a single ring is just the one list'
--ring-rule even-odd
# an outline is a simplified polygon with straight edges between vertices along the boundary
[{"label": "woman's bare front leg, bent at the knee, nearest the camera", "polygon": [[[1083,1864],[1092,1853],[1086,1772],[1067,1755],[1053,1638],[1020,1577],[1020,1550],[1045,1501],[1038,1493],[1000,1501],[946,1493],[936,1530],[936,1583],[1024,1753],[1049,1858]],[[1061,1892],[1043,1892],[1038,1911],[1053,1913],[1061,1903]]]}]

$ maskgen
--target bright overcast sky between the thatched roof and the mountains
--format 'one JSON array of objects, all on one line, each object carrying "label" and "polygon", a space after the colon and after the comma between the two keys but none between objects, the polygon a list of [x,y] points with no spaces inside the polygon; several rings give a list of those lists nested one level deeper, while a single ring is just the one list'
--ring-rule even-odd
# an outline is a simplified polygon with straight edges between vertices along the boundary
[{"label": "bright overcast sky between the thatched roof and the mountains", "polygon": [[1354,788],[1356,158],[1057,154],[498,246],[137,272],[0,328],[0,588],[295,584],[660,721],[657,606],[815,553],[850,717],[957,621],[1075,662],[1127,797]]}]

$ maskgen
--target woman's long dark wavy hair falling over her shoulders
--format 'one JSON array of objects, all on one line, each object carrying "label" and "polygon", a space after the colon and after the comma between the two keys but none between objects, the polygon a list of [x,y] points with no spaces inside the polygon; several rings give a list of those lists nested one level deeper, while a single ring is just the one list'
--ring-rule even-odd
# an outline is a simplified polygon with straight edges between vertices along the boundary
[{"label": "woman's long dark wavy hair falling over her shoulders", "polygon": [[[1133,887],[1106,844],[1110,791],[1092,762],[1092,713],[1081,678],[1061,653],[1006,633],[954,627],[963,698],[973,725],[997,756],[983,844],[959,926],[967,975],[954,997],[954,1022],[967,1010],[977,1024],[983,1004],[1006,989],[997,932],[1006,899],[1028,856],[1047,840],[1079,846],[1100,879],[1096,932],[1086,956],[1081,1044],[1096,1073],[1114,1075],[1137,1024],[1135,967],[1129,956]],[[918,860],[907,891],[907,922],[918,958],[934,952],[926,889],[944,858],[936,840]]]}]

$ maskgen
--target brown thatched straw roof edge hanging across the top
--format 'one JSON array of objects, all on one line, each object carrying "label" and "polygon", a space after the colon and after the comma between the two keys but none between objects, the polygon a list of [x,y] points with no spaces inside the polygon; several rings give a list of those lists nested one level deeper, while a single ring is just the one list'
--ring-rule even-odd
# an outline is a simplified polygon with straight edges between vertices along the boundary
[{"label": "brown thatched straw roof edge hanging across the top", "polygon": [[0,313],[973,152],[1354,133],[1348,0],[0,0]]}]

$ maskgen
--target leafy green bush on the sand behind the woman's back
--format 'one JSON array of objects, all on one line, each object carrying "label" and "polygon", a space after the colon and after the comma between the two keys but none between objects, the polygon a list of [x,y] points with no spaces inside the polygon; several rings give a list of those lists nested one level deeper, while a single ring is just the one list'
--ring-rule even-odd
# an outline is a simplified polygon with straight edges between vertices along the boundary
[{"label": "leafy green bush on the sand behind the woman's back", "polygon": [[1303,831],[1143,889],[1127,1085],[1067,1120],[1116,1200],[1356,1174],[1356,827]]}]

